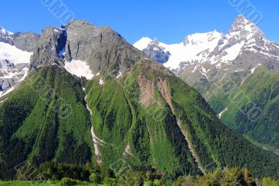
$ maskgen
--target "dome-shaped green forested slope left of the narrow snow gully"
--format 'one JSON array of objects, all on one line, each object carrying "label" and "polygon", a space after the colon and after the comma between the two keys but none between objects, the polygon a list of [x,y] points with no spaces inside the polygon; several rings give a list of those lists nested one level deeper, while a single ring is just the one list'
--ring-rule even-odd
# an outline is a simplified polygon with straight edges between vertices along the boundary
[{"label": "dome-shaped green forested slope left of the narrow snow gully", "polygon": [[0,104],[0,177],[12,178],[27,159],[91,161],[90,125],[77,80],[56,66],[40,69]]}]

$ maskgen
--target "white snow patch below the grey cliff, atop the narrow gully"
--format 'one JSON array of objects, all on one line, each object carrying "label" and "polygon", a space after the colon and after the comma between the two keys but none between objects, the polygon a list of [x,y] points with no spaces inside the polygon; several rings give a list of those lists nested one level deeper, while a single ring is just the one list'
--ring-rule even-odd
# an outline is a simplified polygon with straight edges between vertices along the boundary
[{"label": "white snow patch below the grey cliff, atop the narrow gully", "polygon": [[71,62],[65,62],[65,69],[69,73],[77,77],[85,77],[87,80],[91,80],[94,77],[94,74],[89,68],[89,65],[86,62],[80,60],[72,60]]}]

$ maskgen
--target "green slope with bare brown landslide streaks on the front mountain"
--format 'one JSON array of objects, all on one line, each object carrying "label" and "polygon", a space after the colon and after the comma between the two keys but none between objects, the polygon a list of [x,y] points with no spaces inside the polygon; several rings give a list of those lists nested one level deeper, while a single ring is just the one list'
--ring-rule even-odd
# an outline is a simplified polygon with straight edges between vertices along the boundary
[{"label": "green slope with bare brown landslide streaks on the front mountain", "polygon": [[[160,68],[145,60],[121,79],[108,76],[104,85],[87,81],[92,124],[105,141],[99,145],[104,165],[123,157],[129,146],[124,157],[135,169],[155,166],[170,176],[217,166],[247,166],[256,176],[278,174],[278,156],[227,129],[202,96]],[[151,100],[142,102],[142,94],[151,94]],[[167,112],[160,121],[153,115],[158,108]]]}]

